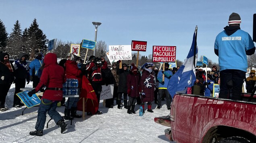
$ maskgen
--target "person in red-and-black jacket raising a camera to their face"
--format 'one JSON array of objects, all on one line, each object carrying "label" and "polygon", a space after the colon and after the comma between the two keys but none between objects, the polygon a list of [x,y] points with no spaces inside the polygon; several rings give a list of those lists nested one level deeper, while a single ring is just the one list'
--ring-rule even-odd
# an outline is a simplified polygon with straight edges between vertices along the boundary
[{"label": "person in red-and-black jacket raising a camera to their face", "polygon": [[[89,64],[86,65],[85,70],[88,71],[88,79],[92,84],[92,87],[96,93],[98,103],[100,103],[100,93],[102,91],[102,70],[108,68],[108,63],[104,60],[104,58],[99,58],[95,56],[90,56]],[[102,114],[101,111],[97,111],[96,114]],[[92,113],[87,112],[87,115],[92,115]]]}]

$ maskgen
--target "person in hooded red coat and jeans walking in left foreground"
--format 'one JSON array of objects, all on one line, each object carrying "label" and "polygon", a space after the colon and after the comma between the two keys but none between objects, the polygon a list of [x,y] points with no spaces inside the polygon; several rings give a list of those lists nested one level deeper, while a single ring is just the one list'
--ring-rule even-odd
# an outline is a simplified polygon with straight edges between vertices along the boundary
[{"label": "person in hooded red coat and jeans walking in left foreground", "polygon": [[65,83],[66,77],[64,68],[58,65],[57,55],[48,53],[44,57],[44,69],[38,85],[28,93],[29,97],[46,87],[41,99],[40,106],[37,111],[37,121],[35,124],[35,131],[31,131],[29,135],[43,135],[44,124],[46,122],[46,113],[54,119],[54,122],[60,126],[63,133],[67,129],[67,124],[64,119],[56,111],[58,101],[62,100],[62,85]]}]

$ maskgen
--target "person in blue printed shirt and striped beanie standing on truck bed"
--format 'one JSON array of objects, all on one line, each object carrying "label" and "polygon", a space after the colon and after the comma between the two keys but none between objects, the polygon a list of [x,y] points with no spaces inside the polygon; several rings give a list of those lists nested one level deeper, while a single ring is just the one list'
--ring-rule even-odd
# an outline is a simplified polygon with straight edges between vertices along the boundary
[{"label": "person in blue printed shirt and striped beanie standing on truck bed", "polygon": [[[232,80],[232,99],[241,100],[242,85],[247,72],[247,57],[255,52],[251,36],[240,29],[239,14],[229,16],[229,26],[216,36],[214,52],[219,56],[220,98],[228,99],[227,83]],[[233,62],[235,61],[235,62]]]}]

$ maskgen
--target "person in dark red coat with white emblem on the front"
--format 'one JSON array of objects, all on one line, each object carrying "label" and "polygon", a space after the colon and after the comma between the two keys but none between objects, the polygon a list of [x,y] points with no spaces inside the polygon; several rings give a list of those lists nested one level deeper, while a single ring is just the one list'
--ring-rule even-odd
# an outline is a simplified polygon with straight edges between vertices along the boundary
[{"label": "person in dark red coat with white emblem on the front", "polygon": [[151,109],[152,101],[154,101],[154,89],[155,89],[155,84],[156,84],[156,77],[152,75],[152,64],[148,63],[144,66],[144,69],[142,71],[142,78],[140,80],[140,87],[141,87],[141,106],[143,108],[143,113],[144,111],[144,105],[145,102],[148,102],[148,112],[153,113]]}]

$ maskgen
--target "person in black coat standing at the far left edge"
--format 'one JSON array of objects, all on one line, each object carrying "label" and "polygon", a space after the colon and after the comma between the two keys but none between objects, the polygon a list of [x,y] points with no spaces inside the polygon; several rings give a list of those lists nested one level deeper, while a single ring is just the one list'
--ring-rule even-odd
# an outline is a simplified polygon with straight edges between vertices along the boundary
[{"label": "person in black coat standing at the far left edge", "polygon": [[0,111],[5,111],[8,108],[5,107],[5,99],[10,85],[14,81],[14,66],[9,61],[9,54],[0,54]]}]

